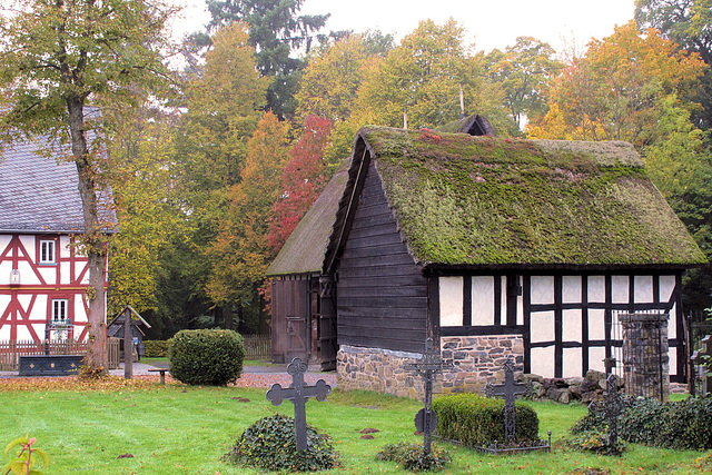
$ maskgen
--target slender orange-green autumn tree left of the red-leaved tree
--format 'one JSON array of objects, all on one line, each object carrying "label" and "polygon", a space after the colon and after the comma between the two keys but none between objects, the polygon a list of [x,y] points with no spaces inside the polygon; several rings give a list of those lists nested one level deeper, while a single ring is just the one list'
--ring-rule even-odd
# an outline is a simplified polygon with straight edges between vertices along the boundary
[{"label": "slender orange-green autumn tree left of the red-leaved tree", "polygon": [[[216,305],[231,309],[238,318],[246,307],[259,310],[257,289],[275,253],[269,248],[269,218],[281,192],[281,169],[287,161],[287,126],[271,112],[259,120],[247,144],[241,180],[228,190],[228,208],[216,239],[207,249],[212,263],[207,293]],[[227,311],[226,326],[233,318]],[[240,318],[241,321],[241,318]],[[261,321],[261,320],[260,320]],[[265,324],[260,325],[265,330]]]}]

